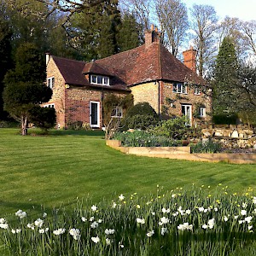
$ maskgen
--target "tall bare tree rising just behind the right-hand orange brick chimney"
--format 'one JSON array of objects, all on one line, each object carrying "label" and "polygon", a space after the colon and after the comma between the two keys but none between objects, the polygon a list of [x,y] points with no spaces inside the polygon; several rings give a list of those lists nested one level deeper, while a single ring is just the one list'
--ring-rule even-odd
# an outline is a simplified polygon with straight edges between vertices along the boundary
[{"label": "tall bare tree rising just behind the right-hand orange brick chimney", "polygon": [[195,32],[194,44],[198,54],[198,71],[202,77],[209,67],[213,54],[216,51],[217,15],[210,5],[194,4],[191,13],[191,29]]}]

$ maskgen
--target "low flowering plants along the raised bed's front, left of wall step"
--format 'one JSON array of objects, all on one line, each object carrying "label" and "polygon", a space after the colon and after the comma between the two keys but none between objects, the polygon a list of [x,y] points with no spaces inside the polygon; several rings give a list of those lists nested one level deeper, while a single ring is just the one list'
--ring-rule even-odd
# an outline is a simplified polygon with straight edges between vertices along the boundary
[{"label": "low flowering plants along the raised bed's front, left of wall step", "polygon": [[167,137],[155,136],[147,131],[124,131],[114,134],[113,139],[121,141],[125,147],[177,147],[182,142]]}]

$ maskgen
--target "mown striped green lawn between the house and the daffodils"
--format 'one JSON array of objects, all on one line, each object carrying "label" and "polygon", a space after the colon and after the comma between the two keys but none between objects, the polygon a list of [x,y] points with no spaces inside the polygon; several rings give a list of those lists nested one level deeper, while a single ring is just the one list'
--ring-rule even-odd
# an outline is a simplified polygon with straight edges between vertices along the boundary
[{"label": "mown striped green lawn between the house and the daffodils", "polygon": [[[32,131],[30,131],[31,133]],[[102,132],[52,131],[21,137],[0,129],[0,217],[19,209],[70,207],[88,195],[103,197],[155,193],[159,184],[176,187],[223,183],[233,192],[256,188],[256,165],[164,160],[119,153]]]}]

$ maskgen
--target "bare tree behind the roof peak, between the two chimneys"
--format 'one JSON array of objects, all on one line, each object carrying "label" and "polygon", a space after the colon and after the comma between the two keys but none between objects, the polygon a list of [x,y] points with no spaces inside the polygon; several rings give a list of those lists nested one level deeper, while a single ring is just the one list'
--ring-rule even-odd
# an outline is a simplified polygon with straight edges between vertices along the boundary
[{"label": "bare tree behind the roof peak, between the two chimneys", "polygon": [[155,9],[164,35],[163,42],[176,57],[189,28],[186,5],[180,0],[157,0]]}]

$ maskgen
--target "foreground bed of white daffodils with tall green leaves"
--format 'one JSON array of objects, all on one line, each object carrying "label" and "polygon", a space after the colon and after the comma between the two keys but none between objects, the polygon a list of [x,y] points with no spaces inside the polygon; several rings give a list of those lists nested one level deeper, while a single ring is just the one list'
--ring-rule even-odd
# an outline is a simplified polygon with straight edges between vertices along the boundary
[{"label": "foreground bed of white daffodils with tall green leaves", "polygon": [[256,238],[255,204],[255,196],[229,195],[221,183],[213,193],[194,186],[165,193],[157,185],[154,196],[77,201],[73,212],[19,210],[1,218],[0,236],[9,255],[230,255]]}]

